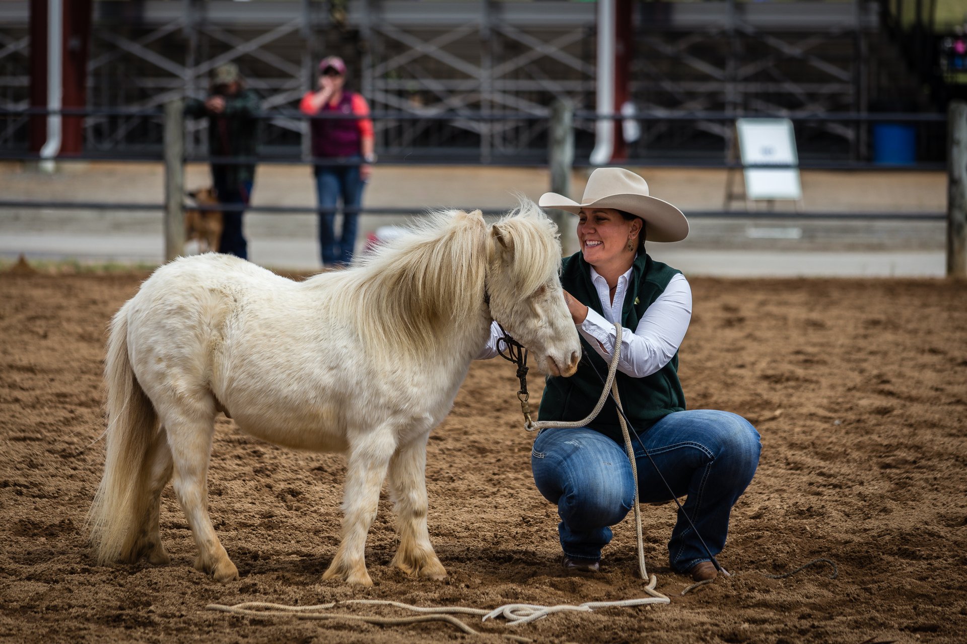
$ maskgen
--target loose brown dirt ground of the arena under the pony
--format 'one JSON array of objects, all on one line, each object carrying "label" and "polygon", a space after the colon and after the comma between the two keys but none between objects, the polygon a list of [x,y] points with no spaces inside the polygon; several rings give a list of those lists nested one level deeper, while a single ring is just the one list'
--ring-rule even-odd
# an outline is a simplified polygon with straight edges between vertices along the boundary
[{"label": "loose brown dirt ground of the arena under the pony", "polygon": [[[630,519],[603,574],[556,565],[555,508],[534,489],[513,368],[477,363],[427,458],[430,534],[450,576],[389,568],[380,503],[366,559],[375,586],[320,577],[337,547],[341,457],[297,453],[220,418],[211,512],[241,579],[191,568],[170,487],[167,567],[100,567],[84,517],[101,475],[109,317],[140,273],[0,273],[0,640],[11,642],[508,641],[446,624],[229,616],[210,602],[350,598],[495,607],[642,597]],[[670,605],[557,614],[513,634],[548,642],[962,642],[967,640],[967,287],[946,281],[692,280],[681,351],[689,406],[744,414],[759,471],[720,559],[734,573],[681,597],[667,568],[672,506],[645,506],[647,557]],[[535,387],[537,388],[537,387]],[[814,567],[785,579],[816,557]],[[347,611],[353,610],[346,608]],[[381,612],[397,615],[396,611]]]}]

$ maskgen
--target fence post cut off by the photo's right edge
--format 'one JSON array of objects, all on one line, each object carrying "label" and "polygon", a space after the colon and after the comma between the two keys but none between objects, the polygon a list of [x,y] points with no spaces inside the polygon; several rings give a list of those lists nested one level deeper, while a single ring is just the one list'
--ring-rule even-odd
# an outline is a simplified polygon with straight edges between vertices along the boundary
[{"label": "fence post cut off by the photo's right edge", "polygon": [[967,279],[967,102],[947,109],[947,276]]}]

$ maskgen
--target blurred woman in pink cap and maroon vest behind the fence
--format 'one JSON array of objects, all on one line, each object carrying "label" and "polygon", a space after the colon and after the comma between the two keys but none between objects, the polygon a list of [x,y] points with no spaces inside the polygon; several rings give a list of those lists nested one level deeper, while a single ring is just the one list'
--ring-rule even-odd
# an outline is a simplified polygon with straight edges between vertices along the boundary
[{"label": "blurred woman in pink cap and maroon vest behind the fence", "polygon": [[[315,166],[315,185],[319,198],[319,245],[323,266],[344,266],[353,257],[356,227],[363,188],[376,161],[373,153],[372,121],[366,98],[344,89],[346,64],[338,56],[327,56],[319,63],[318,89],[307,92],[299,109],[310,116],[352,114],[359,119],[312,119],[312,156],[332,159]],[[342,200],[342,232],[336,237],[337,203]]]}]

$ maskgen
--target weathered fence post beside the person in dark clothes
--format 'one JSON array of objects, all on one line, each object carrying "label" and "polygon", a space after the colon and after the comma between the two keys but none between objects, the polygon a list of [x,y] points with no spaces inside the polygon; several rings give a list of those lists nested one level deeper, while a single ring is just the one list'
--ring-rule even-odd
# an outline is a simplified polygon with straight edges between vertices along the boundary
[{"label": "weathered fence post beside the person in dark clothes", "polygon": [[185,99],[164,105],[164,261],[185,252]]}]

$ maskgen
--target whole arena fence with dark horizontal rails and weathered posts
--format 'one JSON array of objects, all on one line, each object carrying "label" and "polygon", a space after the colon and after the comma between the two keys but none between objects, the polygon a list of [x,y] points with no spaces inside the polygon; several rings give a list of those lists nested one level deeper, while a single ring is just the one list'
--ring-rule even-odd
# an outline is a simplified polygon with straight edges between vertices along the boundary
[{"label": "whole arena fence with dark horizontal rails and weathered posts", "polygon": [[[718,121],[718,122],[733,122],[737,118],[748,118],[748,117],[758,117],[758,118],[769,118],[769,117],[780,117],[789,119],[793,123],[809,123],[809,122],[841,122],[841,123],[853,123],[853,124],[875,124],[875,123],[900,123],[900,124],[927,124],[936,126],[937,124],[943,124],[945,130],[951,132],[950,140],[952,154],[960,148],[967,147],[967,126],[962,126],[964,128],[964,134],[957,138],[952,134],[954,130],[961,127],[959,124],[960,120],[967,120],[967,115],[958,111],[960,108],[957,107],[960,103],[952,105],[951,110],[948,114],[909,114],[909,113],[827,113],[827,114],[797,114],[797,113],[783,113],[783,114],[732,114],[725,112],[697,112],[697,111],[661,111],[661,112],[651,112],[646,114],[637,114],[633,117],[633,120],[639,123],[649,123],[649,122],[674,122],[674,121]],[[5,110],[0,109],[0,119],[17,117],[23,118],[24,116],[46,116],[48,114],[55,113],[44,108],[31,108],[28,110]],[[145,162],[164,162],[165,164],[165,198],[163,204],[132,204],[132,203],[110,203],[110,202],[65,202],[65,201],[49,201],[49,200],[22,200],[22,199],[0,199],[0,208],[44,208],[44,209],[65,209],[65,210],[163,210],[165,212],[165,255],[168,259],[172,259],[181,253],[181,249],[184,246],[184,210],[185,210],[185,191],[184,191],[184,166],[186,162],[204,162],[204,163],[215,163],[220,165],[231,165],[231,164],[306,164],[306,165],[318,165],[318,166],[344,166],[359,164],[358,160],[344,159],[344,158],[320,158],[312,157],[304,154],[288,154],[288,155],[269,155],[269,154],[259,154],[254,157],[217,157],[217,156],[192,156],[188,157],[184,154],[184,136],[185,136],[185,126],[184,126],[184,111],[183,102],[181,100],[175,100],[169,103],[165,110],[143,110],[143,109],[62,109],[59,110],[61,116],[65,117],[82,117],[91,115],[100,116],[111,116],[111,115],[122,115],[126,117],[131,116],[142,116],[151,119],[161,119],[164,126],[165,137],[164,145],[161,149],[153,149],[144,151],[142,154],[60,154],[56,157],[57,161],[75,161],[75,160],[101,160],[101,161],[145,161]],[[273,119],[273,118],[299,118],[305,121],[313,119],[351,119],[357,120],[359,117],[354,115],[321,115],[321,116],[307,116],[301,112],[291,111],[291,110],[277,110],[273,112],[266,112],[258,115],[259,119]],[[626,121],[629,119],[627,116],[614,115],[614,114],[595,114],[592,112],[585,111],[574,111],[571,106],[567,104],[559,104],[552,109],[548,110],[547,116],[540,116],[534,114],[450,114],[450,113],[437,113],[428,115],[417,115],[412,113],[391,113],[391,112],[374,112],[370,115],[371,119],[396,119],[399,121],[417,121],[421,119],[435,119],[435,120],[460,120],[466,121],[468,119],[478,120],[481,122],[495,122],[495,121],[505,121],[505,120],[520,120],[520,121],[539,121],[543,119],[550,120],[549,134],[547,147],[543,150],[541,157],[525,157],[518,158],[512,162],[491,162],[489,165],[512,165],[521,167],[534,167],[534,166],[549,166],[551,169],[551,185],[550,190],[554,192],[559,192],[562,194],[570,194],[570,176],[571,170],[575,167],[590,167],[590,162],[584,159],[576,159],[574,151],[574,122],[578,120],[588,120],[588,121],[600,121],[600,120],[613,120],[613,121]],[[945,135],[947,131],[945,131]],[[383,156],[383,163],[394,164],[403,163],[401,159],[398,158],[386,158],[385,154]],[[37,153],[26,153],[26,152],[9,152],[0,151],[0,160],[19,160],[19,161],[39,161],[42,160],[40,154]],[[482,163],[479,159],[465,159],[470,165],[487,165],[487,163]],[[418,158],[405,160],[405,165],[427,165],[433,163],[449,163],[454,164],[453,158],[439,158],[439,159],[427,159]],[[805,161],[799,163],[796,166],[790,166],[788,164],[769,164],[769,165],[749,165],[743,164],[736,160],[728,159],[725,154],[722,155],[721,159],[718,160],[684,160],[681,162],[661,162],[655,163],[648,159],[643,158],[627,158],[621,161],[615,161],[616,165],[625,165],[630,167],[641,167],[641,166],[659,166],[659,167],[689,167],[689,168],[719,168],[719,169],[730,169],[738,170],[743,168],[756,168],[756,167],[769,167],[769,168],[788,168],[797,167],[802,170],[942,170],[947,168],[946,164],[943,163],[914,163],[914,164],[902,164],[902,165],[888,165],[880,163],[870,163],[870,162],[854,162],[854,161],[840,161],[831,159],[820,159],[812,160],[806,159]],[[952,182],[954,182],[955,168],[951,169]],[[956,180],[959,181],[959,180]],[[952,204],[955,200],[952,199]],[[273,213],[325,213],[332,212],[333,209],[328,209],[324,207],[280,207],[280,206],[258,206],[249,207],[242,204],[219,204],[211,206],[192,206],[192,208],[197,208],[198,210],[239,210],[244,208],[249,211],[262,211],[262,212],[273,212]],[[692,210],[687,212],[689,217],[742,217],[742,218],[796,218],[796,219],[856,219],[856,220],[866,220],[866,219],[881,219],[881,220],[942,220],[948,219],[951,222],[958,221],[958,217],[962,216],[962,213],[957,213],[954,211],[955,206],[951,206],[948,212],[809,212],[809,211],[760,211],[760,210]],[[385,214],[406,214],[412,215],[415,212],[425,210],[425,206],[415,206],[412,208],[373,208],[366,209],[362,208],[359,211],[366,212],[379,212]],[[491,213],[491,212],[488,212]],[[496,214],[497,212],[492,212]],[[967,247],[967,242],[963,239],[957,241],[957,238],[964,238],[967,236],[967,226],[960,226],[959,228],[951,223],[948,226],[948,264],[949,266],[954,266],[954,268],[949,268],[950,274],[959,274],[956,272],[955,266],[967,266],[967,261],[957,258],[957,253],[963,254],[963,248]],[[959,246],[957,246],[959,244]],[[960,248],[961,250],[956,250]],[[959,264],[958,264],[959,263]],[[962,273],[967,276],[967,268],[961,270]]]}]

